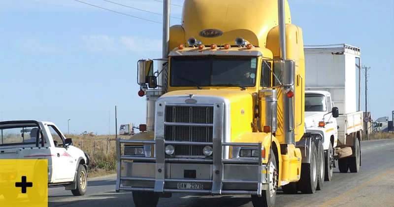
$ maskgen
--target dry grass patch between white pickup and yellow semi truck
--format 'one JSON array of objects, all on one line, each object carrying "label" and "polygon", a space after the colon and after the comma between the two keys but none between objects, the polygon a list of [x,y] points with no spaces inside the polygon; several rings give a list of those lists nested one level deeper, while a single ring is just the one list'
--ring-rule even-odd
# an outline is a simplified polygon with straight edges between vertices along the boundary
[{"label": "dry grass patch between white pickup and yellow semi truck", "polygon": [[[116,139],[108,135],[66,135],[72,138],[73,145],[86,152],[91,160],[89,164],[89,177],[105,175],[116,172]],[[130,136],[121,136],[128,139]],[[109,140],[109,141],[108,141]],[[109,143],[109,145],[107,144]]]}]

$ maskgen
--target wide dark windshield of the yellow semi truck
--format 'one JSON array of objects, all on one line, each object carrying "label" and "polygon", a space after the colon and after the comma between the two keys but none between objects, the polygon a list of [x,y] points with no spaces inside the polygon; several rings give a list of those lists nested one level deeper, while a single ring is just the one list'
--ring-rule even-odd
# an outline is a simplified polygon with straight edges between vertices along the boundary
[{"label": "wide dark windshield of the yellow semi truck", "polygon": [[256,85],[257,57],[172,57],[170,86]]}]

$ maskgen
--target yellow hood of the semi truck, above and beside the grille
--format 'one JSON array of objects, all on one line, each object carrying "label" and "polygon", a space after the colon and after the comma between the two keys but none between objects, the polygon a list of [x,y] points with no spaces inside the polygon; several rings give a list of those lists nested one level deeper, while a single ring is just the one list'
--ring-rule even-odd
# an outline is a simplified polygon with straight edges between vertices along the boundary
[{"label": "yellow hood of the semi truck, above and beside the grille", "polygon": [[[188,101],[193,101],[194,104],[223,103],[225,113],[223,121],[227,130],[229,130],[228,135],[231,135],[231,140],[238,138],[244,132],[252,131],[251,122],[253,122],[254,104],[252,94],[248,91],[182,90],[166,93],[159,99],[172,104],[185,104]],[[230,126],[235,127],[230,130]],[[226,139],[229,140],[229,137]]]}]

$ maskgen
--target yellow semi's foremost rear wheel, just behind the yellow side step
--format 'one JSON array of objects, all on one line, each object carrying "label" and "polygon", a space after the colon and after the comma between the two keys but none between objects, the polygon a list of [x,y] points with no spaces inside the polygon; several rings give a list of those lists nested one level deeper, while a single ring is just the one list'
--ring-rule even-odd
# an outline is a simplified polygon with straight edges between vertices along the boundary
[{"label": "yellow semi's foremost rear wheel, just behind the yellow side step", "polygon": [[301,193],[315,193],[318,179],[318,156],[316,145],[311,144],[310,163],[301,164],[301,178],[298,181]]}]

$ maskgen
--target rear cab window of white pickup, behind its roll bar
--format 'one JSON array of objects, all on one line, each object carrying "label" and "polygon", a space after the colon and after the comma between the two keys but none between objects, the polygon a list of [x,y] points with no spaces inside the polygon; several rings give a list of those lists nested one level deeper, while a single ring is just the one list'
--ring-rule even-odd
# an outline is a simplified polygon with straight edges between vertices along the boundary
[{"label": "rear cab window of white pickup, behind its roll bar", "polygon": [[35,144],[37,127],[15,126],[0,130],[0,145]]}]

